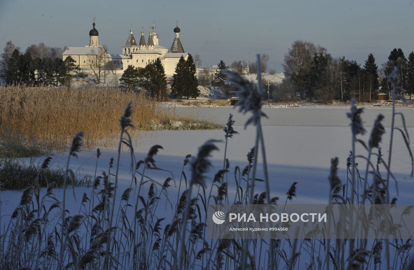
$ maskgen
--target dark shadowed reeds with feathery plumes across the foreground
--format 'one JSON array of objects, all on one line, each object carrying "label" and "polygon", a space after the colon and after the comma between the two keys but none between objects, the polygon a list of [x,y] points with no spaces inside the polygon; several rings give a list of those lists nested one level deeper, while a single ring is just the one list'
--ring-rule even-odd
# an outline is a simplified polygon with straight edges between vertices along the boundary
[{"label": "dark shadowed reeds with feathery plumes across the foreground", "polygon": [[[0,215],[1,226],[5,224],[0,234],[0,268],[412,269],[408,265],[412,258],[411,239],[327,241],[206,238],[205,212],[208,203],[288,204],[295,199],[298,187],[293,182],[289,189],[284,190],[285,197],[272,196],[269,185],[277,186],[279,179],[269,180],[267,177],[261,95],[248,81],[238,77],[234,80],[242,88],[241,110],[249,115],[252,113],[249,122],[255,124],[256,130],[253,148],[238,146],[246,148],[248,152],[244,166],[231,164],[234,153],[227,146],[232,144],[234,136],[238,136],[236,131],[242,131],[233,126],[232,118],[229,117],[222,137],[226,149],[222,167],[220,165],[220,169],[214,172],[214,178],[207,180],[205,177],[212,168],[210,157],[219,145],[218,141],[210,140],[200,146],[196,156],[183,157],[180,175],[171,174],[162,182],[154,180],[151,172],[169,174],[168,168],[157,162],[157,154],[162,146],[151,147],[144,158],[135,160],[130,137],[135,123],[131,119],[132,106],[128,104],[119,119],[117,156],[108,161],[106,168],[95,166],[93,188],[85,190],[82,198],[77,196],[76,201],[72,199],[68,182],[64,183],[61,192],[56,192],[53,183],[44,190],[36,180],[33,186],[22,192],[20,202],[10,218]],[[394,91],[395,97],[397,91]],[[391,130],[400,131],[394,126],[394,118],[400,116],[402,114],[393,110]],[[329,203],[395,203],[389,191],[389,183],[394,182],[394,179],[388,169],[393,136],[390,137],[388,156],[383,157],[379,151],[384,132],[381,117],[377,118],[369,139],[365,141],[360,140],[365,133],[363,110],[353,105],[349,118],[353,139],[349,148],[353,151],[347,161],[347,177],[338,177],[337,158],[332,158],[330,174],[320,176],[321,179],[328,178],[326,194]],[[407,156],[411,157],[407,131],[401,129],[401,134],[407,140]],[[82,148],[83,136],[83,133],[78,133],[72,140],[65,169],[69,178],[73,177],[71,159]],[[361,144],[366,154],[362,154],[362,151],[357,153],[356,144]],[[130,182],[129,187],[118,190],[120,165],[125,167],[125,163],[120,164],[122,145],[129,148],[130,174],[127,177]],[[100,151],[94,158],[96,161],[93,162],[98,164]],[[367,167],[357,167],[356,162],[359,160],[368,160]],[[175,157],[171,158],[171,163],[177,163]],[[47,164],[42,165],[38,173],[46,168]],[[189,174],[184,173],[185,168],[189,168]],[[379,168],[385,168],[384,175],[381,175]],[[264,176],[265,191],[256,193],[259,170]],[[228,189],[230,182],[237,186],[235,191]],[[175,186],[178,192],[171,192],[171,186]]]}]

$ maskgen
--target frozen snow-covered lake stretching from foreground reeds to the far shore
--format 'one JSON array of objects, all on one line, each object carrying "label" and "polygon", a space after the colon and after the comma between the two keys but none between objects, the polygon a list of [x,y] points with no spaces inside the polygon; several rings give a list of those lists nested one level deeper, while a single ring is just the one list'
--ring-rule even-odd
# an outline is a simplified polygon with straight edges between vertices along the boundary
[{"label": "frozen snow-covered lake stretching from foreground reeds to the far shore", "polygon": [[[229,139],[227,157],[230,161],[229,192],[234,192],[233,172],[236,165],[244,168],[247,165],[246,154],[254,145],[255,129],[248,126],[244,129],[243,124],[246,120],[245,115],[238,114],[236,110],[229,108],[178,108],[185,113],[197,113],[200,117],[207,117],[216,122],[224,124],[229,113],[235,114],[233,119],[236,121],[235,130],[240,134]],[[190,110],[190,111],[189,111]],[[345,113],[349,109],[346,107],[333,108],[289,108],[289,109],[264,109],[269,119],[264,119],[263,130],[267,149],[267,159],[269,165],[270,179],[272,182],[272,196],[278,196],[284,201],[286,192],[293,182],[298,182],[297,198],[292,203],[327,203],[328,181],[327,177],[330,168],[330,159],[337,156],[339,158],[339,177],[342,182],[346,182],[346,162],[351,148],[351,130],[349,120]],[[408,133],[414,137],[414,109],[402,108],[398,111],[403,112],[406,117]],[[382,147],[388,149],[390,114],[389,108],[369,107],[363,113],[363,121],[367,128],[367,134],[361,139],[367,141],[370,128],[376,115],[382,113],[385,116],[384,126],[386,134],[383,136]],[[400,121],[398,121],[400,123]],[[398,124],[400,125],[400,124]],[[197,153],[198,147],[208,139],[224,139],[224,131],[157,131],[148,133],[147,138],[141,139],[135,147],[136,161],[142,160],[147,151],[154,144],[164,147],[159,155],[155,157],[156,165],[159,168],[171,170],[177,182],[181,173],[185,155]],[[217,170],[222,168],[224,143],[218,144],[220,151],[214,153],[214,169],[211,170],[209,178],[212,179]],[[413,144],[411,144],[413,146]],[[116,158],[115,148],[102,148],[102,156],[98,162],[98,174],[102,170],[108,170],[110,158]],[[362,147],[356,149],[357,154],[366,155]],[[96,150],[82,151],[79,158],[72,158],[70,168],[77,171],[77,175],[94,175]],[[386,151],[384,155],[388,155]],[[385,157],[384,157],[385,158]],[[39,162],[44,158],[39,158]],[[63,165],[67,160],[67,155],[53,156],[53,165]],[[358,161],[358,160],[357,160]],[[365,170],[365,163],[358,161],[359,168]],[[119,192],[123,192],[130,187],[130,153],[127,148],[123,149],[121,159],[121,175],[119,180]],[[261,167],[258,167],[261,168]],[[400,134],[395,133],[394,151],[392,153],[391,169],[398,180],[399,196],[395,191],[394,182],[391,183],[392,197],[398,197],[398,203],[413,203],[412,190],[413,179],[409,177],[411,170],[410,159],[407,149]],[[384,170],[383,170],[384,171]],[[187,175],[189,172],[186,171]],[[166,172],[150,172],[154,179],[161,184],[171,176]],[[258,178],[262,178],[261,170]],[[207,183],[209,186],[209,183]],[[173,185],[172,185],[173,186]],[[76,187],[77,199],[82,197],[83,192],[90,193],[87,188]],[[88,190],[88,191],[87,191]],[[257,187],[257,192],[263,190],[262,186]],[[57,196],[60,190],[56,190]],[[173,192],[173,189],[168,192]],[[20,199],[20,192],[1,192],[0,200],[3,201],[1,215],[11,214]],[[70,197],[69,197],[70,198]],[[79,203],[72,204],[74,209],[79,209]],[[72,211],[71,211],[72,212]]]}]

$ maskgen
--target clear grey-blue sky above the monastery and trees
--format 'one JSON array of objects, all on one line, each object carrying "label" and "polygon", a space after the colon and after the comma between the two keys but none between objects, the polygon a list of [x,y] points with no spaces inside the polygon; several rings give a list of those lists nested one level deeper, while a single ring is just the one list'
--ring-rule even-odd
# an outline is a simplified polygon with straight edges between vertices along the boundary
[{"label": "clear grey-blue sky above the monastery and trees", "polygon": [[373,53],[380,66],[395,47],[414,51],[413,11],[412,0],[0,0],[0,51],[8,40],[23,50],[87,45],[95,16],[111,54],[121,53],[131,24],[147,40],[153,20],[159,44],[170,48],[178,20],[184,51],[200,54],[205,67],[265,53],[280,73],[297,39],[361,64]]}]

